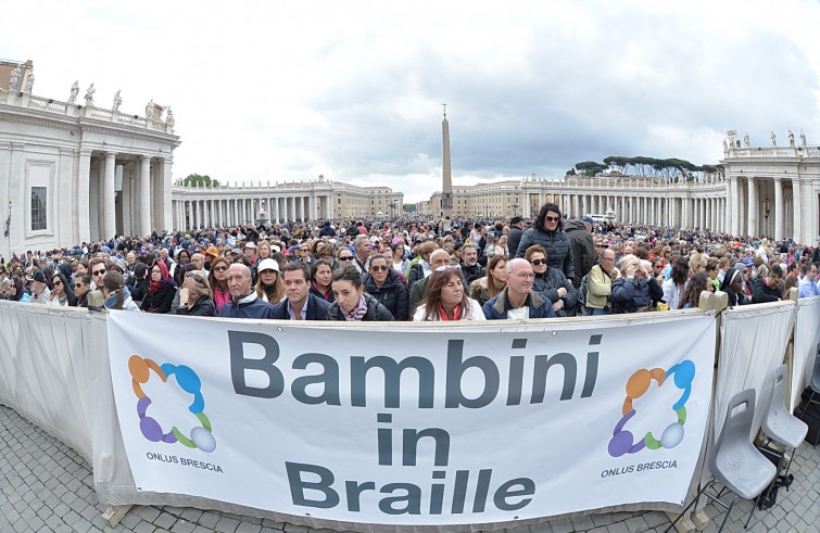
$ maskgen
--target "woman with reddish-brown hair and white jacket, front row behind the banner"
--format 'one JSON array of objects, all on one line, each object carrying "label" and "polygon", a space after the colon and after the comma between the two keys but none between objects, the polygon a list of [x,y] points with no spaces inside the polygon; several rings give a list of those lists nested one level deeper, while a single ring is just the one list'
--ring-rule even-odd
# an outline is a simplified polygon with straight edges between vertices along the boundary
[{"label": "woman with reddish-brown hair and white jacket, front row behind the banner", "polygon": [[467,296],[456,267],[439,267],[427,282],[414,321],[487,320],[481,305]]}]

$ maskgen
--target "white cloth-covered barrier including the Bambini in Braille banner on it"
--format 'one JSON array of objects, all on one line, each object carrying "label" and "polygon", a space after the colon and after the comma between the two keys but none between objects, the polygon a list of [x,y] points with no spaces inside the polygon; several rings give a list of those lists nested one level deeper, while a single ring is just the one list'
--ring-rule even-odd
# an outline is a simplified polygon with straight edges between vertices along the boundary
[{"label": "white cloth-covered barrier including the Bambini in Braille banner on it", "polygon": [[[766,372],[782,360],[793,327],[795,379],[805,383],[818,340],[818,304],[820,299],[726,312],[718,404],[746,386],[766,396]],[[110,505],[215,508],[359,531],[492,529],[601,508],[672,510],[701,474],[695,462],[710,404],[715,323],[711,314],[695,310],[526,325],[340,328],[106,317],[2,302],[0,403],[83,455],[100,500]],[[231,331],[250,337],[231,341]],[[274,346],[254,335],[274,339],[277,371],[263,363],[254,367],[254,359],[270,363]],[[456,354],[458,389],[450,377]],[[401,392],[388,386],[384,369],[408,359],[421,370],[395,367]],[[696,369],[689,389],[683,360]],[[368,361],[378,368],[363,370]],[[156,379],[161,373],[171,375],[167,382]],[[658,386],[666,376],[673,386]],[[144,401],[138,405],[135,377],[153,409]],[[239,377],[247,394],[237,394]],[[279,377],[280,394],[254,396],[269,396]],[[194,405],[194,382],[204,408]],[[638,397],[644,382],[651,394]],[[167,383],[178,386],[162,386]],[[488,386],[494,394],[483,405]],[[796,381],[795,394],[802,389]],[[630,391],[634,411],[652,416],[627,417]],[[481,406],[446,407],[453,398]],[[432,407],[419,407],[428,401]],[[673,409],[653,407],[670,404]],[[187,417],[177,418],[180,409]],[[656,475],[664,482],[653,481]]]}]

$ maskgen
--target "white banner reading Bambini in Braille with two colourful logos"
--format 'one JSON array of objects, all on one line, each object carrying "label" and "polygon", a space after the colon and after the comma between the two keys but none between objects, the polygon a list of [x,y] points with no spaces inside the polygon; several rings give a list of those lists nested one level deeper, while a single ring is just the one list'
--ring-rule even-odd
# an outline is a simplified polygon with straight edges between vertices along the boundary
[{"label": "white banner reading Bambini in Braille with two colourful logos", "polygon": [[140,491],[358,523],[682,504],[715,319],[293,325],[111,313]]}]

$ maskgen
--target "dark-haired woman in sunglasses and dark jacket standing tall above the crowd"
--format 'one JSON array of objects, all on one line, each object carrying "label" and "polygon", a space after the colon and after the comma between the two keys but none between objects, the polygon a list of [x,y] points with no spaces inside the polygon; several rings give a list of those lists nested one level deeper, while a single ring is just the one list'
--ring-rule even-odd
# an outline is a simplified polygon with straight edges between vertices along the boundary
[{"label": "dark-haired woman in sunglasses and dark jacket standing tall above the crowd", "polygon": [[576,270],[572,264],[572,245],[564,231],[560,207],[558,204],[545,203],[538,213],[535,223],[521,236],[516,257],[523,257],[527,249],[533,244],[541,244],[546,251],[546,259],[551,268],[557,268],[570,282],[575,280]]}]

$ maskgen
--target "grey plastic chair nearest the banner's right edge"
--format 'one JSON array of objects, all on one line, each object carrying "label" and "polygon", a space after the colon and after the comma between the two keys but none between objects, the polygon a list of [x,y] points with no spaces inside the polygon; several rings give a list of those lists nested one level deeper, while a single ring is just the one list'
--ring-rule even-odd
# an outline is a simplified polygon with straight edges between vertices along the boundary
[{"label": "grey plastic chair nearest the banner's right edge", "polygon": [[[697,495],[683,508],[681,513],[667,528],[667,532],[674,528],[678,520],[683,517],[701,495],[706,496],[716,504],[727,509],[726,517],[720,523],[718,532],[723,530],[729,513],[732,512],[737,497],[753,499],[760,495],[764,490],[774,480],[778,469],[769,459],[752,444],[752,421],[755,416],[755,390],[741,391],[732,397],[727,407],[726,421],[722,431],[712,449],[709,450],[708,465],[711,479],[704,485]],[[726,488],[734,493],[732,502],[727,504],[720,496],[723,490],[711,495],[707,488],[721,483]]]}]

